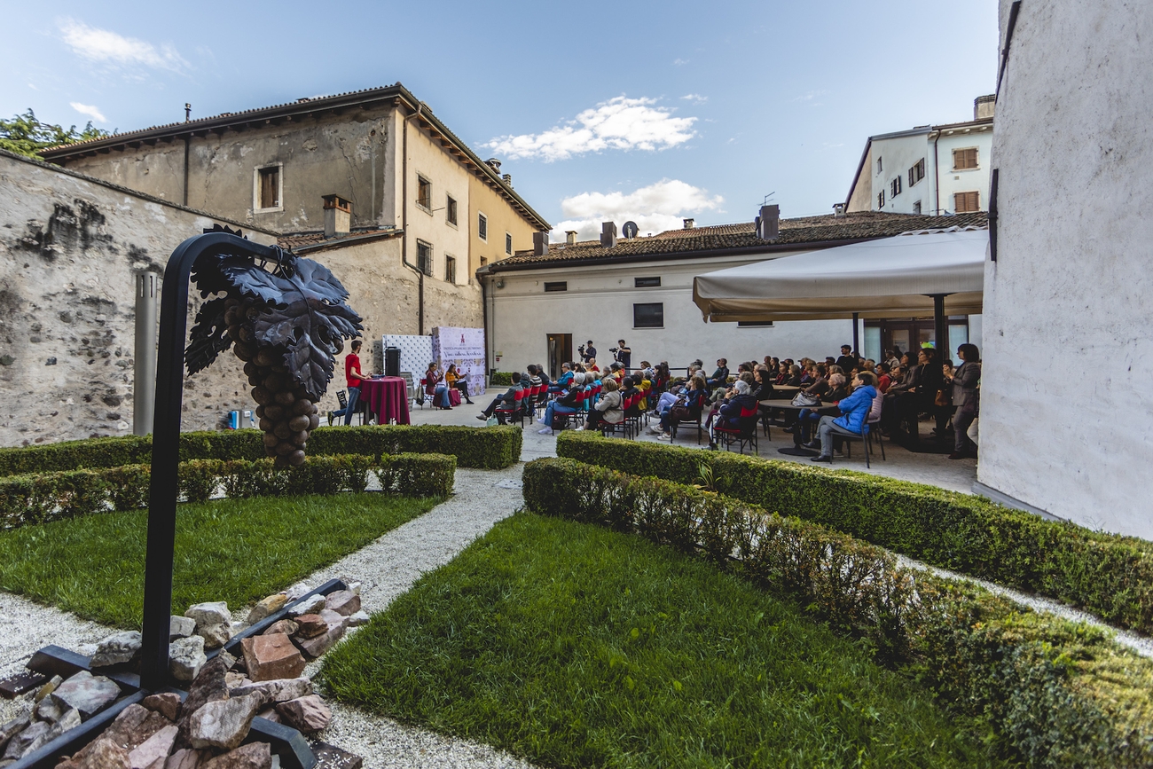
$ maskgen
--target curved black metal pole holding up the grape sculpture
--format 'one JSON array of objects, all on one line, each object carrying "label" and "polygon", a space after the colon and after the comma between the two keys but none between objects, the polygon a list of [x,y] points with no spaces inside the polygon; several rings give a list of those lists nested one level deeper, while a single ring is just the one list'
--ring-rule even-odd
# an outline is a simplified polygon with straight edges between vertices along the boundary
[{"label": "curved black metal pole holding up the grape sculpture", "polygon": [[189,238],[176,247],[164,270],[160,292],[159,349],[152,432],[152,478],[149,489],[148,552],[144,564],[144,623],[141,686],[157,689],[168,680],[168,633],[172,616],[172,561],[176,536],[176,466],[180,462],[180,413],[184,387],[184,339],[188,331],[188,279],[202,256],[251,256],[276,259],[278,249],[229,233]]}]

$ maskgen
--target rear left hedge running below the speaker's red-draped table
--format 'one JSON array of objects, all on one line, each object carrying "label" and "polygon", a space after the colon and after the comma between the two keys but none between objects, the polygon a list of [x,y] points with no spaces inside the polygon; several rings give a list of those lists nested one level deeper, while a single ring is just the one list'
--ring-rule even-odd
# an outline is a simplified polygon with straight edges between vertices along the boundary
[{"label": "rear left hedge running below the speaker's red-draped table", "polygon": [[[262,459],[259,430],[198,431],[180,435],[180,459]],[[515,427],[467,428],[436,424],[319,428],[308,439],[310,457],[332,454],[452,454],[459,467],[499,469],[520,461]],[[0,448],[0,476],[82,468],[148,465],[152,436],[67,440],[23,448]]]}]

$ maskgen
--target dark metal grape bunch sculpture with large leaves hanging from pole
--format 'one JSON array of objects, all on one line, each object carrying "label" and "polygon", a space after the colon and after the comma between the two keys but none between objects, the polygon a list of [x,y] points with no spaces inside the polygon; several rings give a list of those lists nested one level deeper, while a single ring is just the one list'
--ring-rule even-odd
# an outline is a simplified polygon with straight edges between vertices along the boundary
[{"label": "dark metal grape bunch sculpture with large leaves hanging from pole", "polygon": [[196,261],[193,281],[201,296],[224,296],[201,306],[184,362],[196,374],[232,347],[244,361],[258,404],[264,451],[285,467],[304,461],[308,436],[321,423],[316,404],[332,379],[336,355],[363,326],[345,303],[348,292],[327,267],[276,250],[276,262],[247,256]]}]

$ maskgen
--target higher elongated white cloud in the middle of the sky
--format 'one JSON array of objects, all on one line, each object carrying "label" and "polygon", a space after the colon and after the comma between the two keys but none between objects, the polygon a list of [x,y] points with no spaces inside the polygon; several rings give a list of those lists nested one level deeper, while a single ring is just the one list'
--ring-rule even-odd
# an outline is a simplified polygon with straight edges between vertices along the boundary
[{"label": "higher elongated white cloud in the middle of the sky", "polygon": [[601,150],[664,150],[696,135],[696,118],[673,118],[656,99],[618,96],[585,110],[575,120],[541,134],[499,136],[483,146],[506,158],[565,160]]}]

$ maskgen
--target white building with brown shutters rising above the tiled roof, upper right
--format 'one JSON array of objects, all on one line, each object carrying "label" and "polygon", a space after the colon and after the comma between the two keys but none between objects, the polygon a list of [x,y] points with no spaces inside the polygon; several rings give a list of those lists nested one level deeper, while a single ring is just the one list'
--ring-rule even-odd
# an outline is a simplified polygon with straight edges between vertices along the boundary
[{"label": "white building with brown shutters rising above the tiled roof, upper right", "polygon": [[949,216],[988,211],[994,97],[973,120],[869,136],[845,210]]}]

